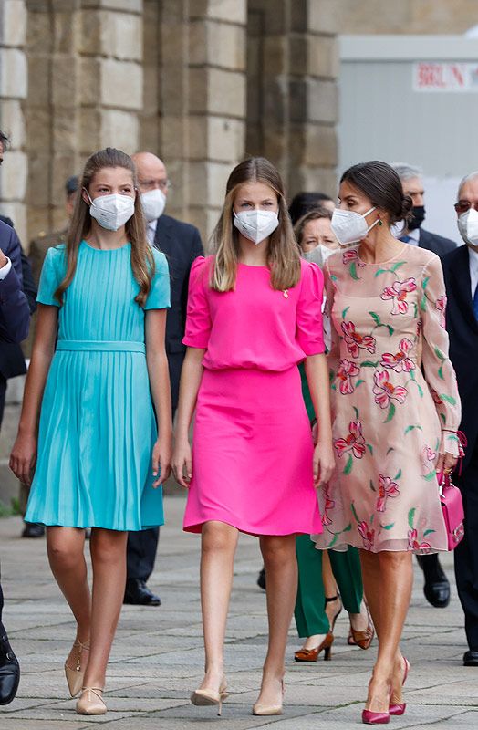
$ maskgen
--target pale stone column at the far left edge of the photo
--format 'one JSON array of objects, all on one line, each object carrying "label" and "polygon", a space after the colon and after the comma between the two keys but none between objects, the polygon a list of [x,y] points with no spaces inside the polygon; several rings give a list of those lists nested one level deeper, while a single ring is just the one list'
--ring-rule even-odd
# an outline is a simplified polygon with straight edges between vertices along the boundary
[{"label": "pale stone column at the far left edge of the photo", "polygon": [[25,54],[26,4],[4,0],[0,4],[0,130],[10,137],[0,173],[0,213],[15,223],[26,244],[26,138],[22,107],[28,89]]}]

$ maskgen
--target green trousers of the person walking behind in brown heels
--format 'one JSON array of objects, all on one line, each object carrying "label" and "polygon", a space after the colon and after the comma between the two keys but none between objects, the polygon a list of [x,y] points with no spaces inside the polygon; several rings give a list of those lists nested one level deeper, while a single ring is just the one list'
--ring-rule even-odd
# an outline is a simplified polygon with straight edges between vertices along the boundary
[{"label": "green trousers of the person walking behind in brown heels", "polygon": [[[298,589],[296,598],[297,633],[300,637],[330,631],[327,619],[326,596],[322,581],[322,550],[308,535],[296,537]],[[345,552],[329,550],[330,565],[337,580],[344,609],[359,613],[363,597],[362,571],[359,550],[348,547]]]}]

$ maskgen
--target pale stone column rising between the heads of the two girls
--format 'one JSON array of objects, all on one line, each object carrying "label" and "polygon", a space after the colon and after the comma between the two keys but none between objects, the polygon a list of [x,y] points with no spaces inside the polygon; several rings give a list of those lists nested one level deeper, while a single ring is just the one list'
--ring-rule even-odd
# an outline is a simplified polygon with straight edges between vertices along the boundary
[{"label": "pale stone column rising between the heads of the two girls", "polygon": [[190,3],[190,217],[210,233],[225,182],[244,157],[247,3]]}]

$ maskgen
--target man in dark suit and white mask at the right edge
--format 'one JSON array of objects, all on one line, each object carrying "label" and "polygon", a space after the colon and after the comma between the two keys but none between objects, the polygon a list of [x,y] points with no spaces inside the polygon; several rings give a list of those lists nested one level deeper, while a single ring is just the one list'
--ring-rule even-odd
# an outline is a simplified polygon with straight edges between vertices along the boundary
[{"label": "man in dark suit and white mask at the right edge", "polygon": [[478,666],[478,172],[462,180],[458,191],[460,234],[466,245],[442,258],[447,290],[446,328],[450,359],[462,400],[468,445],[462,473],[454,480],[462,491],[465,533],[455,549],[455,576],[464,611],[468,651],[465,666]]}]

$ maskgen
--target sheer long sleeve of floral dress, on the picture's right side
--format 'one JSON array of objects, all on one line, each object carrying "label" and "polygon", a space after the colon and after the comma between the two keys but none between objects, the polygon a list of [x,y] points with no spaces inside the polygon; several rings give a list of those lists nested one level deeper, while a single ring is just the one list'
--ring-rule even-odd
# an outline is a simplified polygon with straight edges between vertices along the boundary
[{"label": "sheer long sleeve of floral dress, on the picture's right side", "polygon": [[445,284],[442,264],[436,256],[423,268],[420,314],[421,361],[425,380],[442,424],[440,453],[461,456],[462,446],[457,431],[462,419],[462,407],[455,372],[448,354]]}]

